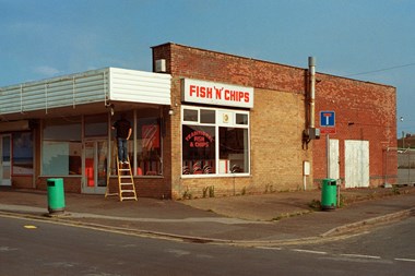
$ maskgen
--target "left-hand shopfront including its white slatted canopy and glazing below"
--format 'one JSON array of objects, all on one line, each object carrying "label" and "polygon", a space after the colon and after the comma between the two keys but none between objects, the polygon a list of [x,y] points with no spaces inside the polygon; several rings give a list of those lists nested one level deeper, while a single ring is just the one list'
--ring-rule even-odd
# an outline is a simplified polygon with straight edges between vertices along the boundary
[{"label": "left-hand shopfront including its white slatted canopy and glazing below", "polygon": [[[70,192],[104,194],[108,184],[116,188],[111,125],[122,113],[133,129],[128,142],[132,175],[156,189],[164,177],[169,80],[110,68],[2,88],[8,121],[0,123],[1,185],[46,189],[47,179],[63,178]],[[10,128],[27,118],[24,131]]]}]

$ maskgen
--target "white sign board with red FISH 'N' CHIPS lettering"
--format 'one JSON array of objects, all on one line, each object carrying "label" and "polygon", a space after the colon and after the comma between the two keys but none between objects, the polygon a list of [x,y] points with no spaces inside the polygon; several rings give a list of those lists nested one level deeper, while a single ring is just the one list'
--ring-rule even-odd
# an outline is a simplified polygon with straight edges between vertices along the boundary
[{"label": "white sign board with red FISH 'N' CHIPS lettering", "polygon": [[252,108],[253,87],[185,79],[182,99],[187,103]]}]

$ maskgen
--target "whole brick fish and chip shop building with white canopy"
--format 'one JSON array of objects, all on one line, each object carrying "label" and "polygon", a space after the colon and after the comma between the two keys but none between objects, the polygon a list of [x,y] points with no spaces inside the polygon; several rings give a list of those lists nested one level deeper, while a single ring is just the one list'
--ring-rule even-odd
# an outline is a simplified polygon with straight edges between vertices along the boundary
[{"label": "whole brick fish and chip shop building with white canopy", "polygon": [[[384,160],[396,146],[394,87],[313,79],[310,69],[171,43],[152,49],[154,73],[104,69],[3,87],[2,184],[45,189],[62,177],[67,191],[104,193],[117,184],[110,125],[121,112],[133,124],[140,196],[316,189],[328,176],[346,188],[375,187],[395,178],[395,157]],[[334,113],[335,125],[320,125]],[[72,134],[62,135],[68,128]],[[312,139],[316,129],[330,140]]]}]

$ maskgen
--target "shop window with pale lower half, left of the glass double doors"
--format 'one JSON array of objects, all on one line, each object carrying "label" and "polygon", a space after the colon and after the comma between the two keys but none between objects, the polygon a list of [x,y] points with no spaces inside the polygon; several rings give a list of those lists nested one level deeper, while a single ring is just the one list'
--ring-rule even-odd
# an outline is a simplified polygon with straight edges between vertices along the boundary
[{"label": "shop window with pale lower half, left of the glass double doors", "polygon": [[81,117],[56,118],[44,121],[43,175],[81,175]]}]

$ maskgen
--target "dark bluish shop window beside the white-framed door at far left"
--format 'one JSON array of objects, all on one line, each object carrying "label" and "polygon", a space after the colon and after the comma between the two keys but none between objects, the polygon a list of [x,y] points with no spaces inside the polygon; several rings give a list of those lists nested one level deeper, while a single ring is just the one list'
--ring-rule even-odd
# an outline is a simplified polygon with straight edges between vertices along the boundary
[{"label": "dark bluish shop window beside the white-framed door at far left", "polygon": [[33,175],[32,132],[13,133],[13,175]]}]

